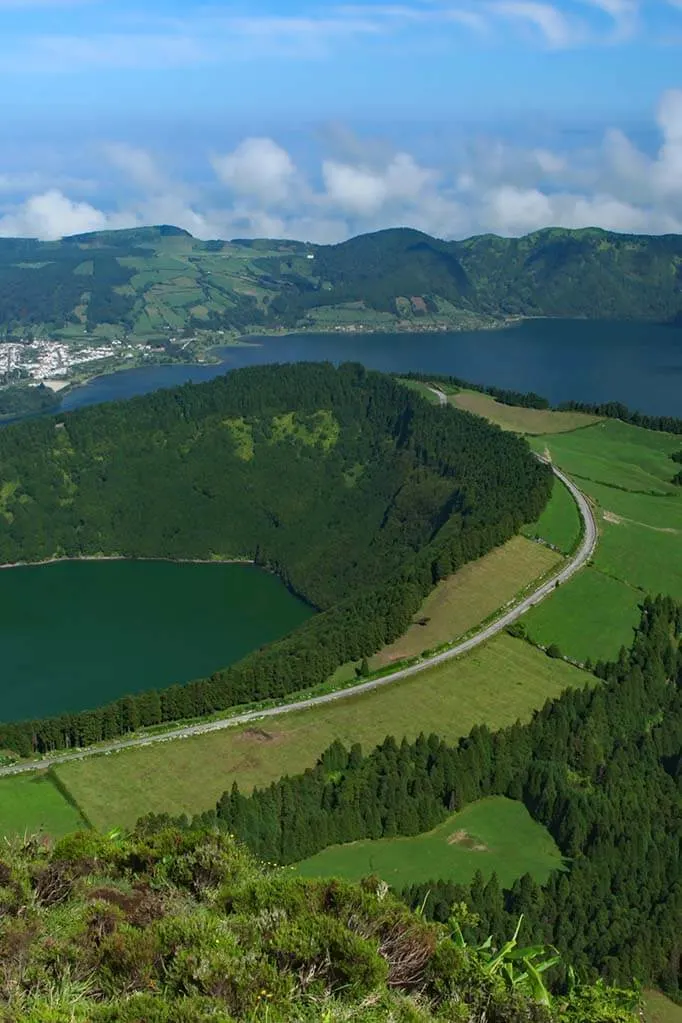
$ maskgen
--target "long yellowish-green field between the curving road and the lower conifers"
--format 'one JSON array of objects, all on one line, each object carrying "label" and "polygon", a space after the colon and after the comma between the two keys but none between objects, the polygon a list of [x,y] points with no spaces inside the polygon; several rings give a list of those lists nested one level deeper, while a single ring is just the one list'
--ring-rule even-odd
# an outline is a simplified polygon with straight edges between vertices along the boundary
[{"label": "long yellowish-green field between the curving road and the lower conifers", "polygon": [[589,678],[502,634],[414,678],[336,704],[90,757],[57,771],[96,828],[128,826],[148,811],[209,809],[235,779],[247,791],[304,770],[334,739],[370,749],[387,735],[436,731],[454,741],[482,721],[491,728],[512,724]]}]

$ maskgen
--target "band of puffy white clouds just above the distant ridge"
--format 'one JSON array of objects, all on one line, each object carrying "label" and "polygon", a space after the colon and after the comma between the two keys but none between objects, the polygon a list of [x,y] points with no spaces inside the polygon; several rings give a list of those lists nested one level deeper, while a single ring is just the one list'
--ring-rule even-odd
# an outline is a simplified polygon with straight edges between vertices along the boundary
[{"label": "band of puffy white clouds just above the distant ridge", "polygon": [[[682,90],[662,96],[657,151],[647,155],[610,129],[589,150],[554,151],[472,139],[450,166],[428,166],[404,148],[366,143],[348,129],[330,138],[345,151],[306,173],[275,139],[243,139],[207,154],[204,188],[174,181],[143,149],[105,146],[102,161],[123,176],[120,209],[45,188],[0,207],[0,234],[55,238],[138,224],[176,224],[197,237],[288,236],[337,241],[390,226],[442,237],[493,231],[522,234],[547,226],[626,232],[682,232]],[[35,178],[5,175],[29,191]]]}]

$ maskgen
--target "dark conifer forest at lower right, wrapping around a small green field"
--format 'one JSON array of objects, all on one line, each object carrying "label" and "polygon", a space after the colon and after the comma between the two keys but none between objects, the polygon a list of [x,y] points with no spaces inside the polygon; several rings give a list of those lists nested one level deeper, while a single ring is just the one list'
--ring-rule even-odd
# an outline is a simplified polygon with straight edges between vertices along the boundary
[{"label": "dark conifer forest at lower right, wrapping around a small green field", "polygon": [[332,745],[304,774],[246,797],[236,782],[206,822],[222,822],[279,863],[360,838],[416,835],[490,795],[522,800],[565,856],[545,886],[495,877],[405,892],[447,920],[465,901],[474,938],[509,933],[519,914],[579,970],[680,993],[682,955],[682,606],[644,601],[630,651],[596,666],[526,725],[476,726],[455,748],[437,736],[389,737],[363,755]]}]

